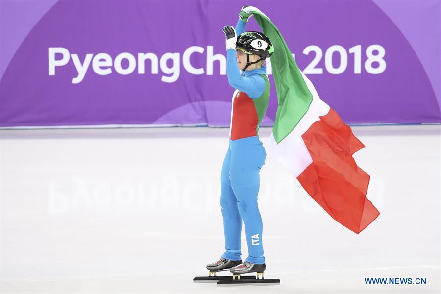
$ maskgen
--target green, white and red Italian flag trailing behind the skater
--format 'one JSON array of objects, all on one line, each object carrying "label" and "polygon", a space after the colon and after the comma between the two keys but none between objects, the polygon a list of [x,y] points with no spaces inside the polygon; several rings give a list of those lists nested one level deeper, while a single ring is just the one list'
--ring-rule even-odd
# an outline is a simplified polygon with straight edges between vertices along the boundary
[{"label": "green, white and red Italian flag trailing behind the skater", "polygon": [[277,27],[259,9],[246,9],[274,46],[271,66],[278,108],[267,153],[280,160],[332,218],[359,234],[380,214],[366,198],[370,177],[352,157],[365,146],[320,99]]}]

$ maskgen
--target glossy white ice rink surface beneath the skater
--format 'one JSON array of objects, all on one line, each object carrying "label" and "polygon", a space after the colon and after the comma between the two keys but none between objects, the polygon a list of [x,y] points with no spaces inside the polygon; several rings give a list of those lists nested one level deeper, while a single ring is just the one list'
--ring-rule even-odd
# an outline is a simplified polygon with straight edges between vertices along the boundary
[{"label": "glossy white ice rink surface beneath the skater", "polygon": [[1,130],[1,292],[440,293],[440,126],[352,130],[380,216],[351,232],[268,156],[265,277],[281,283],[241,288],[193,282],[224,251],[228,129]]}]

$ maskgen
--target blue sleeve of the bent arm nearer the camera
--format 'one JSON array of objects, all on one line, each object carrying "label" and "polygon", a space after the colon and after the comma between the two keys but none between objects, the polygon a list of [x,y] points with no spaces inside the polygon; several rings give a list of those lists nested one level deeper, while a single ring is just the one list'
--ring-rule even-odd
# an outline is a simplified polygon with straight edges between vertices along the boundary
[{"label": "blue sleeve of the bent arm nearer the camera", "polygon": [[245,92],[250,98],[258,98],[265,91],[265,79],[260,75],[242,76],[236,60],[236,50],[227,50],[227,76],[231,87]]}]

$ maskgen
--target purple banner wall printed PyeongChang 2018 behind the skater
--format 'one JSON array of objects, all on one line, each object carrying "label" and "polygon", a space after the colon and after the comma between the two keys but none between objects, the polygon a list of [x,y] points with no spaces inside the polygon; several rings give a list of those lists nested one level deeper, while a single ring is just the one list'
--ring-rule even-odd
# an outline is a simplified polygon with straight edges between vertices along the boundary
[{"label": "purple banner wall printed PyeongChang 2018 behind the skater", "polygon": [[[441,123],[440,1],[249,1],[348,124]],[[0,126],[228,126],[242,1],[0,1]],[[259,30],[253,18],[246,30]],[[275,48],[277,50],[277,48]],[[277,108],[272,84],[262,125]]]}]

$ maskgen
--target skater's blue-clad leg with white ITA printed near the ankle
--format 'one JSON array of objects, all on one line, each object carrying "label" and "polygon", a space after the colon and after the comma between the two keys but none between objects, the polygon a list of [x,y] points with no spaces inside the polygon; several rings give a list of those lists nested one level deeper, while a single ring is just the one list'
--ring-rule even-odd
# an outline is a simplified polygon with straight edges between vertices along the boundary
[{"label": "skater's blue-clad leg with white ITA printed near the ankle", "polygon": [[[242,140],[242,141],[241,141]],[[265,164],[265,149],[258,137],[234,141],[231,156],[231,186],[238,200],[238,209],[245,222],[249,256],[246,261],[265,263],[262,244],[262,218],[257,205],[260,169]]]}]

